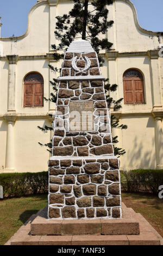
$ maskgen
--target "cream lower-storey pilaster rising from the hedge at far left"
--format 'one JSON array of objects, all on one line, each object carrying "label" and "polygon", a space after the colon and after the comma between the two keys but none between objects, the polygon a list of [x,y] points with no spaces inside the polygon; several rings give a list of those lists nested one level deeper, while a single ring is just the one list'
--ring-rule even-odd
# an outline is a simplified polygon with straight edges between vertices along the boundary
[{"label": "cream lower-storey pilaster rising from the hedge at far left", "polygon": [[7,121],[7,146],[4,172],[14,172],[14,124],[16,121],[16,114],[5,114],[4,119]]}]

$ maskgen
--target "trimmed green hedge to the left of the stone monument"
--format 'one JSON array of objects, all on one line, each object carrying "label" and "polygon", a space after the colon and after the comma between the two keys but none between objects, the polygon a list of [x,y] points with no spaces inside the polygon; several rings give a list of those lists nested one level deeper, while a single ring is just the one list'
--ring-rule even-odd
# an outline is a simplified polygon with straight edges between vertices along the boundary
[{"label": "trimmed green hedge to the left of the stone monument", "polygon": [[0,185],[3,197],[22,197],[27,194],[48,192],[48,172],[39,173],[2,173]]}]

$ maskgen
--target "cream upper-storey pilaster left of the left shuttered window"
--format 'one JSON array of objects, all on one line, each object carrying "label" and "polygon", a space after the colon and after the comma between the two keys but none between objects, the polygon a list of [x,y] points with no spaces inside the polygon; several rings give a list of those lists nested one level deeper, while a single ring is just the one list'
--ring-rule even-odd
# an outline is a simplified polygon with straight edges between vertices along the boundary
[{"label": "cream upper-storey pilaster left of the left shuttered window", "polygon": [[8,111],[16,111],[15,109],[15,84],[16,84],[16,64],[17,55],[7,55],[9,62],[8,73]]}]

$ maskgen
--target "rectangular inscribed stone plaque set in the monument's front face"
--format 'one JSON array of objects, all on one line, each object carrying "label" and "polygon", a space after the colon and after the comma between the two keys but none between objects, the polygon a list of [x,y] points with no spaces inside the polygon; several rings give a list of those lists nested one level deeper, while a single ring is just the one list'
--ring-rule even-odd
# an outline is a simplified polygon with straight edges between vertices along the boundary
[{"label": "rectangular inscribed stone plaque set in the monument's front face", "polygon": [[93,131],[93,101],[70,101],[70,131]]}]

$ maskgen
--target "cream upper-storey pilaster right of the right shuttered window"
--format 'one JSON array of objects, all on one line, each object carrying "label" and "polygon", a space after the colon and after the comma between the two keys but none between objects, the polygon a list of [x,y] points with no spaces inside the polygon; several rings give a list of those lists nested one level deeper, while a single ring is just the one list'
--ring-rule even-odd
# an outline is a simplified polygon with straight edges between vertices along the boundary
[{"label": "cream upper-storey pilaster right of the right shuttered window", "polygon": [[161,84],[159,74],[159,51],[148,51],[148,56],[151,59],[151,77],[153,85],[153,108],[162,108],[161,102]]}]

